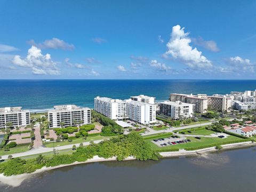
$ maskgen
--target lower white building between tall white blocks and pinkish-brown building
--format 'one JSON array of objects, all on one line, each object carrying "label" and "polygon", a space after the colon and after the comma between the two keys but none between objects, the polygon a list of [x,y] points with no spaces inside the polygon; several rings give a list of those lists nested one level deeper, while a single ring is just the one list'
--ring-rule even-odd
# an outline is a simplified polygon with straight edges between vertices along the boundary
[{"label": "lower white building between tall white blocks and pinkish-brown building", "polygon": [[165,116],[170,116],[172,119],[179,119],[181,116],[190,118],[193,117],[194,106],[194,104],[181,101],[164,101],[159,103],[159,113]]}]

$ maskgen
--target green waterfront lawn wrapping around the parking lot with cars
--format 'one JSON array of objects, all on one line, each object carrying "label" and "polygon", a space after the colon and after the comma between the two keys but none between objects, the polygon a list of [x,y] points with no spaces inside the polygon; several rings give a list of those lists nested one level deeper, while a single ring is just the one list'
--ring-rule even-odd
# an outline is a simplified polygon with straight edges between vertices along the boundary
[{"label": "green waterfront lawn wrapping around the parking lot with cars", "polygon": [[[159,136],[158,138],[164,138]],[[156,138],[155,138],[156,139]],[[201,139],[195,139],[194,137],[187,137],[187,139],[190,139],[191,142],[188,143],[182,143],[178,145],[172,145],[172,146],[166,146],[166,147],[158,147],[155,145],[152,141],[152,139],[146,139],[146,141],[149,143],[153,149],[156,151],[172,151],[172,150],[179,150],[179,149],[187,149],[187,150],[194,150],[194,149],[200,149],[200,148],[206,148],[206,147],[214,147],[217,145],[223,145],[227,143],[234,143],[234,142],[243,142],[247,141],[245,139],[241,139],[238,137],[235,137],[233,135],[229,135],[227,138],[221,139],[221,138],[205,138],[201,137]]]}]

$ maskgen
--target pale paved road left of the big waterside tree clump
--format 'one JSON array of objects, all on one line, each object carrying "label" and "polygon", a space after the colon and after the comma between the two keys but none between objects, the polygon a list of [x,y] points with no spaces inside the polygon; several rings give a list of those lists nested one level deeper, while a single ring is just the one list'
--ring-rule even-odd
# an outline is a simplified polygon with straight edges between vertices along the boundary
[{"label": "pale paved road left of the big waterside tree clump", "polygon": [[[93,141],[94,143],[99,143],[101,140],[95,140]],[[71,144],[71,145],[66,145],[66,146],[59,146],[55,147],[56,150],[63,150],[63,149],[70,149],[73,147],[73,145],[76,145],[76,147],[79,147],[80,143],[77,144]],[[90,141],[88,142],[83,142],[84,146],[90,145]],[[23,152],[23,153],[17,153],[17,154],[11,154],[12,157],[23,157],[23,156],[28,156],[28,155],[36,155],[36,154],[42,154],[42,153],[47,153],[53,151],[53,147],[39,147],[37,149],[31,149],[29,151]],[[9,155],[3,155],[2,159],[7,159]]]}]

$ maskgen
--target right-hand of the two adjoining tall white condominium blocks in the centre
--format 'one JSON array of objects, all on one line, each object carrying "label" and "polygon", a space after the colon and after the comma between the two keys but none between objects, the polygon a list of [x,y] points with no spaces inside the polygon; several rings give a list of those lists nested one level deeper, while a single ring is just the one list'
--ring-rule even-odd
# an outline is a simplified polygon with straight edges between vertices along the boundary
[{"label": "right-hand of the two adjoining tall white condominium blocks in the centre", "polygon": [[127,118],[140,124],[150,124],[156,122],[156,105],[134,101],[132,99],[125,100],[127,103]]}]

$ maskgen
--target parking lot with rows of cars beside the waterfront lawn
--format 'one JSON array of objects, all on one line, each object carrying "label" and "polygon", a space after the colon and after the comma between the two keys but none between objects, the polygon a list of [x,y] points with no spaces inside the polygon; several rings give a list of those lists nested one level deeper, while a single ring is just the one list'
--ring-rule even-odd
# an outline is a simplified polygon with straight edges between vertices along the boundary
[{"label": "parking lot with rows of cars beside the waterfront lawn", "polygon": [[156,144],[158,147],[165,147],[165,146],[171,146],[171,145],[182,145],[182,143],[190,142],[189,139],[186,137],[178,137],[172,135],[172,137],[169,138],[160,138],[160,139],[154,139],[152,140],[154,144]]}]

